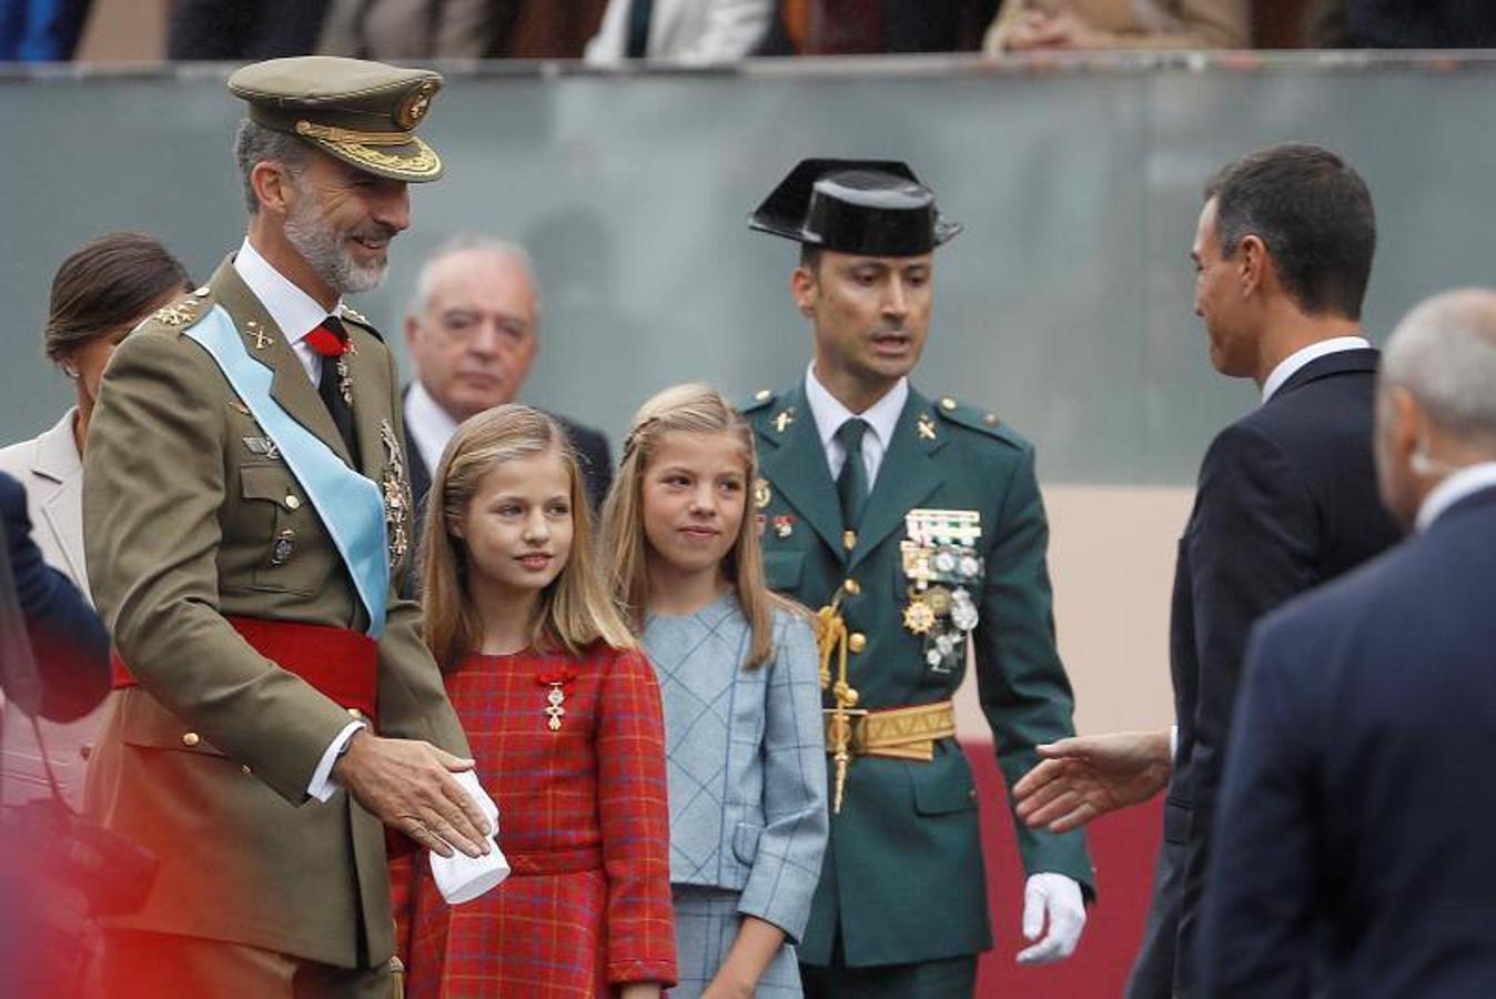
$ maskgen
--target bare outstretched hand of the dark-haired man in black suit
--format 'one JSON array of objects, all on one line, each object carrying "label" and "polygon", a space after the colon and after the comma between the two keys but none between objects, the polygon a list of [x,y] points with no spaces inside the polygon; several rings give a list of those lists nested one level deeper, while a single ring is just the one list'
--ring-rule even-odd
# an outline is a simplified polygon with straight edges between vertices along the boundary
[{"label": "bare outstretched hand of the dark-haired man in black suit", "polygon": [[1040,763],[1013,785],[1028,826],[1052,833],[1158,794],[1173,770],[1168,730],[1076,736],[1037,746]]}]

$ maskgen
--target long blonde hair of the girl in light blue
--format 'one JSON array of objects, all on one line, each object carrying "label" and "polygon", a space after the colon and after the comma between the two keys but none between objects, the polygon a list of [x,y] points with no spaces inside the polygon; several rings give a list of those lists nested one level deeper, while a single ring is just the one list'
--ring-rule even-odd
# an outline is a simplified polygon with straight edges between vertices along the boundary
[{"label": "long blonde hair of the girl in light blue", "polygon": [[603,504],[603,546],[607,552],[607,577],[613,595],[634,631],[643,630],[649,603],[649,540],[645,535],[643,483],[649,462],[666,434],[727,434],[744,450],[744,473],[749,501],[738,540],[723,558],[723,573],[738,591],[738,604],[752,634],[745,666],[755,667],[773,658],[773,609],[799,610],[799,606],[773,594],[763,576],[758,525],[751,502],[758,476],[758,453],[752,428],[729,405],[717,389],[706,384],[678,384],[657,393],[634,414],[624,441],[624,459]]}]

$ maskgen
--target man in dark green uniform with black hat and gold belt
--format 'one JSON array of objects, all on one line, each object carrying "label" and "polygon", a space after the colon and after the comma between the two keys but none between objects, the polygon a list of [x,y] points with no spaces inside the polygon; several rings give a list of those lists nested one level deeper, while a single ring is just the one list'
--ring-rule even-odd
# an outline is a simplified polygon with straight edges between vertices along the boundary
[{"label": "man in dark green uniform with black hat and gold belt", "polygon": [[[790,287],[814,360],[745,413],[769,583],[818,613],[830,845],[800,945],[814,998],[971,996],[992,945],[951,695],[974,652],[1008,784],[1071,731],[1034,449],[908,381],[934,250],[959,226],[902,163],[806,160],[752,214],[802,244]],[[1085,840],[1017,827],[1025,963],[1059,960],[1092,891]],[[1047,924],[1047,932],[1046,932]]]}]

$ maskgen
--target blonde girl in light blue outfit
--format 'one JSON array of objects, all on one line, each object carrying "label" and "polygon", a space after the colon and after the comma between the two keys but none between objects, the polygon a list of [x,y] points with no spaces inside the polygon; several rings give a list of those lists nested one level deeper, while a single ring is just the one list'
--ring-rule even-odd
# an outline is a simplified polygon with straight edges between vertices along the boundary
[{"label": "blonde girl in light blue outfit", "polygon": [[826,849],[815,640],[764,585],[755,483],[744,419],[676,386],[634,416],[603,510],[615,594],[664,701],[672,999],[800,996],[794,944]]}]

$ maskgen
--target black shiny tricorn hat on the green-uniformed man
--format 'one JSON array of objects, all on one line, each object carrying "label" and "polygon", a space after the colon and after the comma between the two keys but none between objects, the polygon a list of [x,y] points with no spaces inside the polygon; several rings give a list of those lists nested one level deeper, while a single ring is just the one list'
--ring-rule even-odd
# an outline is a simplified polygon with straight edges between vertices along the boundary
[{"label": "black shiny tricorn hat on the green-uniformed man", "polygon": [[960,232],[896,160],[800,160],[748,215],[748,227],[869,257],[916,257]]}]

